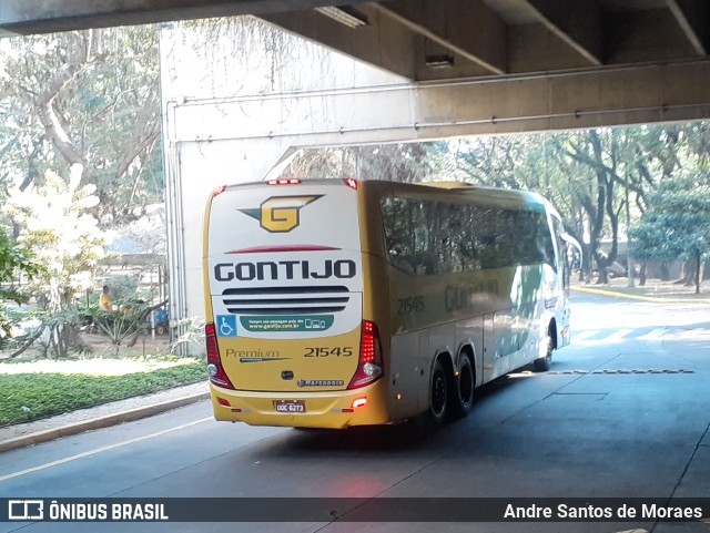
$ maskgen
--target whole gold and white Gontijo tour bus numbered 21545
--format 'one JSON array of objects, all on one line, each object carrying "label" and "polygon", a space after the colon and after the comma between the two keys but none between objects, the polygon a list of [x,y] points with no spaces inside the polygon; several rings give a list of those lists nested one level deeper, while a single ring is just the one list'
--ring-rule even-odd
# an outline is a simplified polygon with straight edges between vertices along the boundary
[{"label": "whole gold and white Gontijo tour bus numbered 21545", "polygon": [[569,237],[520,191],[348,180],[223,186],[203,235],[214,416],[347,428],[465,417],[569,344]]}]

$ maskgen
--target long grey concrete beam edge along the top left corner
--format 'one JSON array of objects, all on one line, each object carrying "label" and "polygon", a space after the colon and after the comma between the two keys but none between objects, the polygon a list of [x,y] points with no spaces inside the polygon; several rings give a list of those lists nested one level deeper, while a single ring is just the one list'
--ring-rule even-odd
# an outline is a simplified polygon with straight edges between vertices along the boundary
[{"label": "long grey concrete beam edge along the top left corner", "polygon": [[2,0],[0,37],[285,12],[357,1],[359,0]]}]

